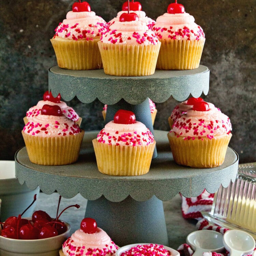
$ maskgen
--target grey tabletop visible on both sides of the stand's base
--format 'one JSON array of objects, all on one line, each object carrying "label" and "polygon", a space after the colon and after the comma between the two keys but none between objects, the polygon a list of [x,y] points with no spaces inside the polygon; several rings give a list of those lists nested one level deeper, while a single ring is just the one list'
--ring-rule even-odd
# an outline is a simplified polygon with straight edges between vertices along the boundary
[{"label": "grey tabletop visible on both sides of the stand's base", "polygon": [[[50,195],[40,193],[38,195],[35,210],[46,211],[50,216],[55,217],[59,194]],[[71,207],[67,209],[60,217],[63,221],[71,225],[71,233],[80,228],[80,222],[84,218],[87,200],[80,194],[67,199],[61,198],[59,212],[69,205],[79,204],[80,208]],[[163,209],[166,219],[169,246],[175,250],[186,242],[189,233],[196,230],[196,220],[187,220],[182,217],[181,196],[178,194],[170,201],[163,202]],[[139,241],[138,241],[139,242]]]}]

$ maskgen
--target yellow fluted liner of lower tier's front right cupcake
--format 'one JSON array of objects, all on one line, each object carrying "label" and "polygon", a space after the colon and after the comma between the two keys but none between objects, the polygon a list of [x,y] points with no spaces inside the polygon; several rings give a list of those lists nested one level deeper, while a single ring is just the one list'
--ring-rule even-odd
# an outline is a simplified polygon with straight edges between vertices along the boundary
[{"label": "yellow fluted liner of lower tier's front right cupcake", "polygon": [[206,137],[203,140],[195,138],[184,140],[176,137],[174,132],[168,132],[168,140],[174,161],[179,165],[194,168],[212,168],[224,162],[231,133],[215,136],[213,139]]}]

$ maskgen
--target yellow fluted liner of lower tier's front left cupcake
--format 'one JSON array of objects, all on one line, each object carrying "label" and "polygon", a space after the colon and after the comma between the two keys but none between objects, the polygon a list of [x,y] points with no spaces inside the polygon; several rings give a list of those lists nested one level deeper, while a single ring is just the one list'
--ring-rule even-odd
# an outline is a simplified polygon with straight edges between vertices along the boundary
[{"label": "yellow fluted liner of lower tier's front left cupcake", "polygon": [[29,160],[38,165],[68,165],[77,161],[84,136],[84,130],[75,135],[60,137],[22,136]]}]

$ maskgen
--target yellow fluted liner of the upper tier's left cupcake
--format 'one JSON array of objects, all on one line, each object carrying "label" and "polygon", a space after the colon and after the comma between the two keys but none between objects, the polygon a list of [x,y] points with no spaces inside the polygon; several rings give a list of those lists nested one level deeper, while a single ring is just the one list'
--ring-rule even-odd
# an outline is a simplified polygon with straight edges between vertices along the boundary
[{"label": "yellow fluted liner of the upper tier's left cupcake", "polygon": [[98,41],[99,39],[75,41],[60,37],[52,38],[51,43],[58,66],[71,70],[101,69]]}]

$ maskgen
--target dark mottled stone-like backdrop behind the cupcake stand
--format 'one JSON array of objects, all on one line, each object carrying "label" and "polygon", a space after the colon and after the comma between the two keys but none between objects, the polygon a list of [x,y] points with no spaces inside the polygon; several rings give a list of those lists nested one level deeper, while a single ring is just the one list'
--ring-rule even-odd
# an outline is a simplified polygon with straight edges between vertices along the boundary
[{"label": "dark mottled stone-like backdrop behind the cupcake stand", "polygon": [[[125,0],[88,0],[106,21]],[[74,0],[1,0],[0,4],[0,159],[14,160],[24,146],[21,130],[26,111],[48,89],[48,69],[56,66],[49,41],[54,29],[72,9]],[[156,19],[174,0],[140,0],[142,10]],[[230,117],[229,146],[240,163],[256,161],[256,1],[180,0],[206,36],[201,64],[210,69],[210,89],[204,100]],[[114,92],[113,92],[114,94]],[[82,128],[100,130],[103,104],[67,102],[83,118]],[[168,116],[178,102],[157,103],[155,129],[169,130]]]}]

